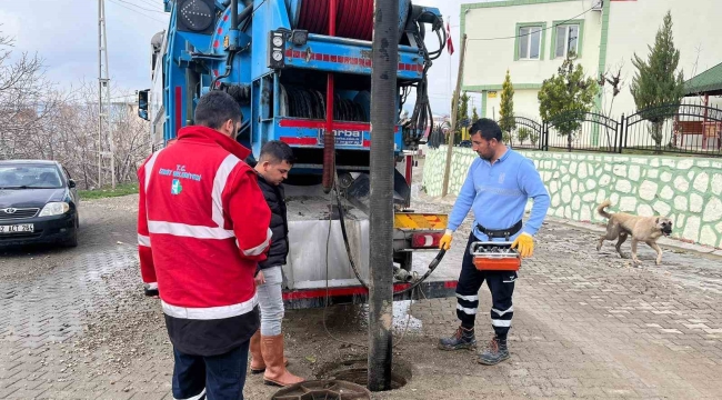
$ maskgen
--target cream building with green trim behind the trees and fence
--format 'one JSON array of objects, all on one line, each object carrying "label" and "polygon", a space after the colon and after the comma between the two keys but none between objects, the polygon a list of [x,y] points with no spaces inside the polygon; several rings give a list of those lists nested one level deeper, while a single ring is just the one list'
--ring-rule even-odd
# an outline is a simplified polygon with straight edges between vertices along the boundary
[{"label": "cream building with green trim behind the trees and fence", "polygon": [[[720,0],[509,0],[461,6],[461,34],[468,36],[462,87],[481,93],[480,114],[499,114],[507,69],[518,116],[539,117],[537,93],[568,50],[575,50],[588,76],[621,68],[623,88],[612,116],[635,111],[629,86],[636,53],[646,60],[666,11],[672,12],[680,68],[690,79],[722,62]],[[596,107],[609,111],[611,92]],[[722,107],[719,98],[711,106]]]}]

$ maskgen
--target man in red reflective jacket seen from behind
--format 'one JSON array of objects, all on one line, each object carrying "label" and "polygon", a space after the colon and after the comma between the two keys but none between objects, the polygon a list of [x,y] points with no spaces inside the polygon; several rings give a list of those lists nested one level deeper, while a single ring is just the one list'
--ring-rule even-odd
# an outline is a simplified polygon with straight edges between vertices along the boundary
[{"label": "man in red reflective jacket seen from behind", "polygon": [[140,269],[157,290],[173,344],[176,399],[243,399],[259,328],[253,274],[271,241],[271,211],[234,137],[241,111],[203,96],[195,123],[138,171]]}]

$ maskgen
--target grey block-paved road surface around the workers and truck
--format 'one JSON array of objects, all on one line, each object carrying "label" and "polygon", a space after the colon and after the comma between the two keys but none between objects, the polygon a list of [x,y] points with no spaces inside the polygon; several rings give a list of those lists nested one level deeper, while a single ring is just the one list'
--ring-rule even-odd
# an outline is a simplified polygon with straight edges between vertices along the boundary
[{"label": "grey block-paved road surface around the workers and truck", "polygon": [[[154,300],[140,294],[134,197],[84,204],[80,247],[23,249],[0,258],[0,398],[171,399],[170,346]],[[419,209],[448,209],[420,199]],[[454,243],[464,242],[469,223]],[[435,349],[455,327],[453,299],[399,303],[394,357],[413,379],[379,399],[720,398],[722,263],[666,250],[662,267],[642,246],[640,268],[595,233],[546,223],[523,266],[512,359],[494,368],[472,352]],[[444,259],[458,264],[459,246]],[[482,306],[490,307],[482,288]],[[287,312],[291,369],[309,378],[364,353],[363,307]],[[479,314],[480,341],[491,336]],[[325,321],[325,328],[324,323]],[[408,322],[409,321],[409,322]],[[409,323],[405,334],[402,334]],[[330,339],[328,331],[341,343]],[[248,399],[274,390],[249,377]]]}]

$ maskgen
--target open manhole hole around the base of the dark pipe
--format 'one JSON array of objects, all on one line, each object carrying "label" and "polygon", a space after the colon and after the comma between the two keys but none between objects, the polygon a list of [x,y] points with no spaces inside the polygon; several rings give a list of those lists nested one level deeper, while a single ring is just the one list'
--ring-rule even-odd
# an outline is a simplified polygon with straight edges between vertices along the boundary
[{"label": "open manhole hole around the base of the dark pipe", "polygon": [[[329,363],[318,373],[322,379],[338,379],[347,382],[368,387],[369,366],[365,358],[357,358]],[[391,390],[403,388],[411,381],[411,364],[404,360],[395,359],[391,366]]]}]

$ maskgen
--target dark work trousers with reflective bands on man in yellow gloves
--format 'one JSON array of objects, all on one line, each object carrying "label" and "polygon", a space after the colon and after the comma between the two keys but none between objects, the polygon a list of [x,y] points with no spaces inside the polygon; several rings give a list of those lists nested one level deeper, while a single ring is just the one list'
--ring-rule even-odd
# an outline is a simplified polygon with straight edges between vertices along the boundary
[{"label": "dark work trousers with reflective bands on man in yellow gloves", "polygon": [[457,317],[461,320],[463,328],[474,327],[479,309],[479,289],[485,280],[491,291],[491,326],[499,339],[507,339],[511,328],[511,318],[514,314],[511,298],[514,293],[517,272],[478,270],[473,263],[473,256],[470,253],[471,243],[474,241],[479,241],[479,239],[471,233],[457,286]]}]

